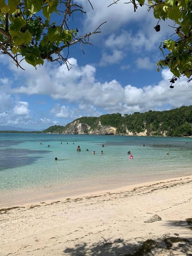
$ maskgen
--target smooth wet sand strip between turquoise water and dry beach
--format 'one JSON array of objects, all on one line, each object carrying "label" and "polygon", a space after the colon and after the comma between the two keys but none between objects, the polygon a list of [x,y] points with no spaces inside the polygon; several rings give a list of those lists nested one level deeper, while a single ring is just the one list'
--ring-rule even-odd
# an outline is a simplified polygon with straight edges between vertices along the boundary
[{"label": "smooth wet sand strip between turquoise water and dry beach", "polygon": [[[188,170],[188,172],[190,172]],[[52,184],[42,187],[19,188],[8,191],[0,191],[0,209],[6,207],[14,207],[17,205],[34,204],[41,201],[61,200],[64,197],[86,196],[88,194],[100,194],[105,192],[129,190],[136,186],[142,187],[158,182],[169,182],[180,178],[190,177],[188,172],[145,175],[141,180],[135,176],[129,177],[126,182],[122,179],[108,180],[85,180],[73,184]]]}]

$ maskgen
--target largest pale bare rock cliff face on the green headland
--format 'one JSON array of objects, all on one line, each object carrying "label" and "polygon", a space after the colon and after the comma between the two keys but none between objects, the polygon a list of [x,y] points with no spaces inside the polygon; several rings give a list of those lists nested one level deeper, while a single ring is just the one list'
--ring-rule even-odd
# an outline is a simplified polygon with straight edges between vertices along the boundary
[{"label": "largest pale bare rock cliff face on the green headland", "polygon": [[65,127],[63,134],[101,134],[101,135],[115,135],[116,128],[112,126],[102,126],[100,123],[95,127],[91,128],[88,124],[81,123],[76,120]]}]

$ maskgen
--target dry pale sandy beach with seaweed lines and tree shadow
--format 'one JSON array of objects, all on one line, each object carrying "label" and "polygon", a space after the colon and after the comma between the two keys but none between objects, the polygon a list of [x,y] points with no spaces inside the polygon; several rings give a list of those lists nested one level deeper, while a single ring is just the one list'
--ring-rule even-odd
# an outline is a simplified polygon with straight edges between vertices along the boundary
[{"label": "dry pale sandy beach with seaweed lines and tree shadow", "polygon": [[0,255],[192,255],[192,176],[0,209]]}]

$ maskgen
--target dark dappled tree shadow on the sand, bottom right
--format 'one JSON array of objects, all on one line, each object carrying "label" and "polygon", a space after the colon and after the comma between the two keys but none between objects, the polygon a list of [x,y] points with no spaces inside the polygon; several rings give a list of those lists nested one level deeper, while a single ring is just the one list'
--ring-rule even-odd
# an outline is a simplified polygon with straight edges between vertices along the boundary
[{"label": "dark dappled tree shadow on the sand, bottom right", "polygon": [[[164,234],[156,240],[129,243],[124,239],[106,240],[102,238],[100,242],[84,242],[76,244],[74,248],[66,248],[63,251],[65,256],[192,256],[192,218],[186,221],[168,221],[167,226],[187,228],[186,237],[174,233]],[[178,230],[178,229],[177,229]]]}]

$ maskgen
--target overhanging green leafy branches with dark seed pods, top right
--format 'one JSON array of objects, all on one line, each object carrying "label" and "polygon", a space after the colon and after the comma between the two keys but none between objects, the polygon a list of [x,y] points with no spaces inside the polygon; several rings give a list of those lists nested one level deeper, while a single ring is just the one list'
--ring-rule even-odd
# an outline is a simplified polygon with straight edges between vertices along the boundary
[{"label": "overhanging green leafy branches with dark seed pods, top right", "polygon": [[[121,0],[116,0],[116,4]],[[130,0],[134,12],[143,5],[148,6],[148,11],[153,11],[158,19],[154,26],[156,32],[160,31],[160,22],[171,20],[174,22],[172,38],[164,40],[160,44],[163,58],[157,64],[160,68],[168,67],[173,76],[170,78],[170,88],[180,76],[186,76],[192,80],[192,0]],[[110,4],[110,6],[112,5]],[[108,6],[109,7],[109,6]]]}]

